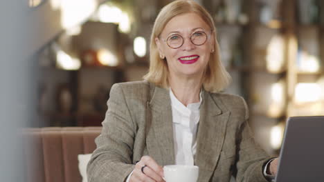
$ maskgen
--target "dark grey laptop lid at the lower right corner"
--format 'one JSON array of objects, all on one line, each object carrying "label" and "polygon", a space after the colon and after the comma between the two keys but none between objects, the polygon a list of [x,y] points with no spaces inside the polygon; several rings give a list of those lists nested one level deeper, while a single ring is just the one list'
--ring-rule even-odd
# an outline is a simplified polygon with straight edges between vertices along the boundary
[{"label": "dark grey laptop lid at the lower right corner", "polygon": [[288,119],[275,181],[324,181],[324,116]]}]

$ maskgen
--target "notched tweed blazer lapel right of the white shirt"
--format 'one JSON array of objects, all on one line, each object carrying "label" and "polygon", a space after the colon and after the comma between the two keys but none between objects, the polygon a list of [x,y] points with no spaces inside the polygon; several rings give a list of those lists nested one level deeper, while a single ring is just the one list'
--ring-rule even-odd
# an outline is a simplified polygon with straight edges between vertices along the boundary
[{"label": "notched tweed blazer lapel right of the white shirt", "polygon": [[217,104],[208,92],[203,91],[195,156],[195,165],[199,166],[198,181],[210,180],[222,150],[230,112],[221,110],[219,105],[221,103]]}]

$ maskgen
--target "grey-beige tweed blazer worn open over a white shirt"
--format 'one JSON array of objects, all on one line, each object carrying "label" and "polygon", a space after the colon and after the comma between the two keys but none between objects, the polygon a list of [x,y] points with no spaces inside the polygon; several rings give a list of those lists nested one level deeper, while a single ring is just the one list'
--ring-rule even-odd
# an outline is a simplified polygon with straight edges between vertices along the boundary
[{"label": "grey-beige tweed blazer worn open over a white shirt", "polygon": [[[88,164],[90,182],[123,182],[143,155],[159,165],[174,164],[169,91],[147,81],[111,88],[102,133]],[[267,181],[262,165],[269,156],[251,135],[246,103],[231,94],[202,91],[197,153],[199,182]]]}]

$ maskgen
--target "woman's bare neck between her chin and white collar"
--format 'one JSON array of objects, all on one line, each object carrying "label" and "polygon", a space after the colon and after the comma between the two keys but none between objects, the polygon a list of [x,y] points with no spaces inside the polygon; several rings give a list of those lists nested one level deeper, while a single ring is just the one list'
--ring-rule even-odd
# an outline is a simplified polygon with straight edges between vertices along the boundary
[{"label": "woman's bare neck between her chin and white collar", "polygon": [[201,78],[180,79],[169,77],[169,85],[175,97],[183,104],[198,103],[201,90]]}]

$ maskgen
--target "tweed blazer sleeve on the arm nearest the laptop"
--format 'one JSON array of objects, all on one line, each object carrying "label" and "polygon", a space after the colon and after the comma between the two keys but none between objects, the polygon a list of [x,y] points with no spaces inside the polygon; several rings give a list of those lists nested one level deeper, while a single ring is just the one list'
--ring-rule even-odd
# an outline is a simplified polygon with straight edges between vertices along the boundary
[{"label": "tweed blazer sleeve on the arm nearest the laptop", "polygon": [[[242,98],[241,98],[242,99]],[[237,130],[237,163],[236,181],[267,182],[263,174],[263,167],[270,158],[260,146],[255,143],[251,128],[249,127],[249,110],[242,99],[245,117]]]}]

